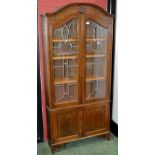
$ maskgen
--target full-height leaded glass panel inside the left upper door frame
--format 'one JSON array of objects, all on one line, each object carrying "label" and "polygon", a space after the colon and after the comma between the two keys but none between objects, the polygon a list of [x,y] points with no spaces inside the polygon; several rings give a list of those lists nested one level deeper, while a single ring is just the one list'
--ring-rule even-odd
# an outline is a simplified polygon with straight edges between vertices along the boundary
[{"label": "full-height leaded glass panel inside the left upper door frame", "polygon": [[54,29],[53,62],[55,102],[78,100],[77,20]]}]

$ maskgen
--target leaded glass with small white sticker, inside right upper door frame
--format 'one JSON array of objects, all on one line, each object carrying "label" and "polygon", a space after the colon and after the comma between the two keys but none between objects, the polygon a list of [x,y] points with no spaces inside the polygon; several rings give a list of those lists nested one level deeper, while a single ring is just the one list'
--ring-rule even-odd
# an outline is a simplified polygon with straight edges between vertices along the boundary
[{"label": "leaded glass with small white sticker, inside right upper door frame", "polygon": [[108,31],[90,19],[87,19],[86,27],[86,99],[104,98]]}]

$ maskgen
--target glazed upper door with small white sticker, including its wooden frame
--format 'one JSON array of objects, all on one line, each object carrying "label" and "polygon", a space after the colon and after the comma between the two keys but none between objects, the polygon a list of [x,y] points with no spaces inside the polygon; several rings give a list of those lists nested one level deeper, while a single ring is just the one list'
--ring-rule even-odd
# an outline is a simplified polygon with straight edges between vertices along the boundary
[{"label": "glazed upper door with small white sticker, including its wooden frame", "polygon": [[111,29],[102,21],[85,18],[84,103],[110,99]]}]

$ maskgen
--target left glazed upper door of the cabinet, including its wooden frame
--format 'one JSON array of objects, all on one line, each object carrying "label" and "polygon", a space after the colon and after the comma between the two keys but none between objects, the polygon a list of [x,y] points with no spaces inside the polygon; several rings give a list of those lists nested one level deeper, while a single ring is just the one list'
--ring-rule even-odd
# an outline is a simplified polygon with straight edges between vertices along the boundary
[{"label": "left glazed upper door of the cabinet, including its wooden frame", "polygon": [[66,18],[62,21],[52,20],[53,23],[49,24],[53,107],[76,105],[81,101],[80,22],[78,16]]}]

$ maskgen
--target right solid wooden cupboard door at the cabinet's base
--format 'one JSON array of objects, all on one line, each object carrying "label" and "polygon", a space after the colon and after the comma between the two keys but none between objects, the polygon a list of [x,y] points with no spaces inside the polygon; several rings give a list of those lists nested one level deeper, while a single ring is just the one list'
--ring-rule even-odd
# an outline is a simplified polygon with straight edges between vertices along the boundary
[{"label": "right solid wooden cupboard door at the cabinet's base", "polygon": [[109,131],[109,106],[95,105],[84,110],[84,136],[98,135]]}]

